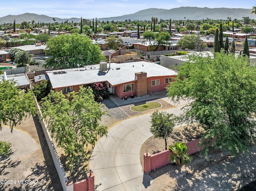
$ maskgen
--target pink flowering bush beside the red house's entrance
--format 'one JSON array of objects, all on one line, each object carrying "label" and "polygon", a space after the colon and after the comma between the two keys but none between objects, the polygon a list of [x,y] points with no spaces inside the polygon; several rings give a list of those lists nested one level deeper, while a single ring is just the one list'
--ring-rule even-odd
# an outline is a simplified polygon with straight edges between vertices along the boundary
[{"label": "pink flowering bush beside the red house's entrance", "polygon": [[109,91],[105,82],[95,82],[89,87],[92,89],[96,102],[102,102],[103,99],[108,98]]}]

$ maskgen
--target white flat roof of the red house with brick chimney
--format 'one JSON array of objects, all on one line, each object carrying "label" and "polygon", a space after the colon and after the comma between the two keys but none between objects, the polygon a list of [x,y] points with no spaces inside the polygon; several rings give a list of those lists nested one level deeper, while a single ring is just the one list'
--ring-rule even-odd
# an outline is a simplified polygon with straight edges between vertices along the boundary
[{"label": "white flat roof of the red house with brick chimney", "polygon": [[[172,76],[178,73],[156,63],[145,61],[129,63],[110,63],[108,72],[101,72],[100,65],[90,65],[86,67],[46,71],[52,88],[68,87],[81,84],[91,84],[94,82],[108,81],[110,85],[116,86],[123,83],[135,81],[135,73],[146,72],[147,77]],[[109,67],[109,63],[108,63]],[[56,74],[58,71],[65,73]],[[55,74],[54,74],[55,73]]]}]

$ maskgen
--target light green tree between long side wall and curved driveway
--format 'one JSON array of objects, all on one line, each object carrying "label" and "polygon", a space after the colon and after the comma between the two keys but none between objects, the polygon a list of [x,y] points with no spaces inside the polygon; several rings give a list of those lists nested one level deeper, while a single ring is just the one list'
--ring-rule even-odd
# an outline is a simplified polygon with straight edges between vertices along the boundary
[{"label": "light green tree between long side wall and curved driveway", "polygon": [[86,147],[94,146],[98,136],[107,134],[99,120],[106,114],[94,101],[92,89],[80,87],[79,92],[63,95],[51,93],[42,99],[42,115],[58,146],[64,149],[70,171],[86,157]]}]

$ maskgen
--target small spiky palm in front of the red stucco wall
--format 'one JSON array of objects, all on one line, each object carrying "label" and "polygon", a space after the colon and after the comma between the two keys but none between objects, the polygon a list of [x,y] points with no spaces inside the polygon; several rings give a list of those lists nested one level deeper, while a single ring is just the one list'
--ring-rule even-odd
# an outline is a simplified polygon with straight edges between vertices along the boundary
[{"label": "small spiky palm in front of the red stucco wall", "polygon": [[168,146],[168,149],[173,152],[173,154],[169,156],[169,161],[176,163],[179,167],[190,163],[193,159],[192,156],[189,156],[187,153],[188,147],[182,142],[176,142]]}]

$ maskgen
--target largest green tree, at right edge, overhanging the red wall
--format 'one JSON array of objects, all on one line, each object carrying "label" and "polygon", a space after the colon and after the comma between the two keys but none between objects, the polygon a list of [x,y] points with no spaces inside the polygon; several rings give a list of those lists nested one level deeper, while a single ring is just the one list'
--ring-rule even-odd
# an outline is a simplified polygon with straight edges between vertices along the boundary
[{"label": "largest green tree, at right edge, overhanging the red wall", "polygon": [[184,120],[198,122],[206,131],[204,140],[216,138],[216,148],[238,154],[256,140],[256,67],[248,65],[248,57],[191,56],[168,87],[168,96],[192,100]]}]

